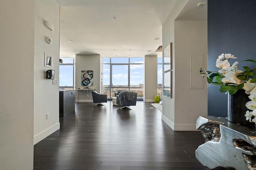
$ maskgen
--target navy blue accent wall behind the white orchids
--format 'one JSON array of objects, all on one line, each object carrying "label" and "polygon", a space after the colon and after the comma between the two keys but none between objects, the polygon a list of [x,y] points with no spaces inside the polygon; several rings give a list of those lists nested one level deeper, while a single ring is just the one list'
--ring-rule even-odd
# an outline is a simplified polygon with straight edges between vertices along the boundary
[{"label": "navy blue accent wall behind the white orchids", "polygon": [[[218,71],[216,59],[230,53],[242,66],[255,67],[243,61],[256,60],[256,0],[208,0],[208,70]],[[219,86],[208,88],[208,115],[227,117],[228,94],[219,92]]]}]

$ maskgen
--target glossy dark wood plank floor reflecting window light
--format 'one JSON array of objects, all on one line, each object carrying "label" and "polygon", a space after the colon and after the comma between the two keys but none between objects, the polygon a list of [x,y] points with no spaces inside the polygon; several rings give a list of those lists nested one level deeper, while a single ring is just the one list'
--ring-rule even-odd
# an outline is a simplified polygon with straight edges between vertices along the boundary
[{"label": "glossy dark wood plank floor reflecting window light", "polygon": [[76,104],[34,145],[34,170],[209,170],[195,158],[200,131],[173,131],[149,102],[131,107]]}]

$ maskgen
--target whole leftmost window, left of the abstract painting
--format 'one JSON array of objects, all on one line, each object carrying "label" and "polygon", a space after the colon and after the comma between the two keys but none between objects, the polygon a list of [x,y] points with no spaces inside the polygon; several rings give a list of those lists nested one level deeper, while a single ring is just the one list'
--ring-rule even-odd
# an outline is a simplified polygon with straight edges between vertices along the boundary
[{"label": "whole leftmost window, left of the abstract painting", "polygon": [[74,90],[74,58],[61,58],[60,90]]}]

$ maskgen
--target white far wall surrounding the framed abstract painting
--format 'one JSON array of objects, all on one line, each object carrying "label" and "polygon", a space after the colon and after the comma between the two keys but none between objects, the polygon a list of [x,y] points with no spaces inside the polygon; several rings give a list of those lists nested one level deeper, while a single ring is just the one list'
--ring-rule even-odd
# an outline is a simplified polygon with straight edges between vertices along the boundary
[{"label": "white far wall surrounding the framed abstract painting", "polygon": [[100,92],[100,74],[102,72],[103,59],[100,55],[76,55],[76,88],[85,87],[81,85],[81,71],[93,71],[93,86],[88,86]]}]

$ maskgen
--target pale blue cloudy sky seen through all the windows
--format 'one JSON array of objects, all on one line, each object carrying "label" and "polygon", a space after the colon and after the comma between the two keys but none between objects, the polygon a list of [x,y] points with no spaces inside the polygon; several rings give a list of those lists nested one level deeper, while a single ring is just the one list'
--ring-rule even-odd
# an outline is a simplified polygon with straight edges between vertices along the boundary
[{"label": "pale blue cloudy sky seen through all the windows", "polygon": [[[73,58],[62,59],[63,63],[73,63]],[[103,58],[103,61],[110,63],[110,58]],[[111,58],[113,85],[128,85],[128,62],[128,58]],[[144,84],[144,58],[130,58],[130,63],[130,85]],[[158,58],[158,63],[162,63],[162,58]],[[60,64],[60,86],[72,84],[73,66]],[[158,84],[162,84],[162,64],[158,64]],[[103,66],[103,85],[110,85],[110,64]]]}]

